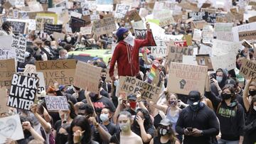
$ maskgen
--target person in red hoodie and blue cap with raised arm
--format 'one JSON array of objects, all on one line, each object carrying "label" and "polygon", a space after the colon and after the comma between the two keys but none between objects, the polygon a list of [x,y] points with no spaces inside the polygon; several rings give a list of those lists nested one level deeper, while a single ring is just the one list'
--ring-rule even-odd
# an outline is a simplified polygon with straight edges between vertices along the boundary
[{"label": "person in red hoodie and blue cap with raised arm", "polygon": [[118,75],[135,77],[139,74],[139,48],[154,44],[149,23],[146,23],[146,39],[135,39],[124,27],[117,30],[117,46],[110,62],[110,77],[114,82],[114,65],[117,61]]}]

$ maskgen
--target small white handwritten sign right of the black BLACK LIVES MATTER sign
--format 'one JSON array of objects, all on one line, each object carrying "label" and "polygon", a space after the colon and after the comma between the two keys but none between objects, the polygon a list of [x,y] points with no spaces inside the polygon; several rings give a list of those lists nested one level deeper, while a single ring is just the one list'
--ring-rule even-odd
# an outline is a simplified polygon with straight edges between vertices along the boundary
[{"label": "small white handwritten sign right of the black BLACK LIVES MATTER sign", "polygon": [[68,111],[66,96],[46,96],[46,107],[48,111]]}]

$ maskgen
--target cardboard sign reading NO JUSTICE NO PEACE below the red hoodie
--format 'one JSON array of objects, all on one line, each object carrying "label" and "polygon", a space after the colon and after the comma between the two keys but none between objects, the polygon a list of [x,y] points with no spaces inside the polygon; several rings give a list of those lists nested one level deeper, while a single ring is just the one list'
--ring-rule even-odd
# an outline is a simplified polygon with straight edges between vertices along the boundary
[{"label": "cardboard sign reading NO JUSTICE NO PEACE below the red hoodie", "polygon": [[136,77],[120,77],[121,82],[121,91],[127,92],[128,94],[137,94],[140,92],[142,94],[142,99],[147,101],[156,102],[161,93],[160,87],[155,87],[152,84],[143,82],[142,80],[137,79]]}]

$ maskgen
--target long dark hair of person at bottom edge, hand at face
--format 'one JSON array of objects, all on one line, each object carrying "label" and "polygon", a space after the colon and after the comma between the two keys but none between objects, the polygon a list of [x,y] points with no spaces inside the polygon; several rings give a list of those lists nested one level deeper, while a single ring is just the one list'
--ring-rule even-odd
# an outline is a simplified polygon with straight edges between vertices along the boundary
[{"label": "long dark hair of person at bottom edge, hand at face", "polygon": [[70,130],[68,131],[68,144],[74,144],[73,141],[73,128],[75,126],[79,126],[82,128],[82,131],[85,131],[82,133],[82,139],[80,140],[80,143],[91,143],[92,133],[90,128],[90,122],[85,118],[85,116],[77,116],[73,119]]}]

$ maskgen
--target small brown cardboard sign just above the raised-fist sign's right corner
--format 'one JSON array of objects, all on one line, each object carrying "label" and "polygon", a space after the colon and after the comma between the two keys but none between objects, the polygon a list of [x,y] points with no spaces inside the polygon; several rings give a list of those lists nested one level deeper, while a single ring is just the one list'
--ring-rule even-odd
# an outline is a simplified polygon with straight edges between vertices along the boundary
[{"label": "small brown cardboard sign just above the raised-fist sign's right corner", "polygon": [[196,55],[196,62],[198,65],[208,67],[208,71],[213,71],[213,65],[210,60],[210,55]]}]

